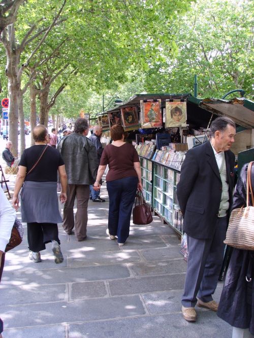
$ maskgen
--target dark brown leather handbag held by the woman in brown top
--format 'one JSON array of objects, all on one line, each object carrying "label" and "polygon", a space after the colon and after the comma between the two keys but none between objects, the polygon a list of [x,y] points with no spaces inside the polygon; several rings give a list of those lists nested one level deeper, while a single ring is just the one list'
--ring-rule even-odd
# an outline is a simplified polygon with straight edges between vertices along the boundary
[{"label": "dark brown leather handbag held by the woman in brown top", "polygon": [[135,207],[133,208],[133,223],[146,225],[150,224],[152,220],[151,208],[145,202],[142,191],[138,191],[135,198]]}]

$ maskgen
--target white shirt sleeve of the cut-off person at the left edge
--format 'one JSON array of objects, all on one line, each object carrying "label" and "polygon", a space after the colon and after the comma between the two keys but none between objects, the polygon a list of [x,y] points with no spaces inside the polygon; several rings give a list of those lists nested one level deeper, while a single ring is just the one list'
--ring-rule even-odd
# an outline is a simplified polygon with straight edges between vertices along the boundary
[{"label": "white shirt sleeve of the cut-off person at the left edge", "polygon": [[3,189],[0,187],[0,250],[5,251],[10,241],[16,212],[11,207]]}]

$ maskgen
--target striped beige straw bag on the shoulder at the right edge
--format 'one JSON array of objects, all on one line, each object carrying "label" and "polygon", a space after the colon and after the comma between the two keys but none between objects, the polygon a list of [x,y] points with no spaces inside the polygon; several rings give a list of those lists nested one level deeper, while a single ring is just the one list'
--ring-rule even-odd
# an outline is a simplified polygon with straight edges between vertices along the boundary
[{"label": "striped beige straw bag on the shoulder at the right edge", "polygon": [[[244,250],[254,250],[254,197],[251,186],[251,166],[247,170],[247,196],[246,207],[234,209],[230,215],[229,227],[226,234],[225,244]],[[251,204],[249,205],[249,193]]]}]

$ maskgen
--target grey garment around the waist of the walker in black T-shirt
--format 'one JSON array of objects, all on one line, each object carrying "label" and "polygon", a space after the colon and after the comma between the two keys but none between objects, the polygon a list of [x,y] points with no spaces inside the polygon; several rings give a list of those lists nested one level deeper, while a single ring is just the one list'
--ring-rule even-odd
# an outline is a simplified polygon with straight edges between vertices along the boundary
[{"label": "grey garment around the waist of the walker in black T-shirt", "polygon": [[25,181],[20,195],[22,222],[62,222],[58,208],[56,182]]}]

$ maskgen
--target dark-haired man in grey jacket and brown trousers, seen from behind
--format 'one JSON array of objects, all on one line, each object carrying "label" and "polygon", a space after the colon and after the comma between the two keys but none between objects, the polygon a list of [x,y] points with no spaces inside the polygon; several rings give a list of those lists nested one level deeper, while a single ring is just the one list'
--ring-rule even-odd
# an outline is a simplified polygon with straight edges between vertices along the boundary
[{"label": "dark-haired man in grey jacket and brown trousers, seen from behind", "polygon": [[[62,138],[58,144],[58,150],[65,161],[68,178],[62,226],[67,234],[72,234],[75,225],[76,238],[79,242],[86,238],[89,185],[96,181],[98,170],[96,147],[86,137],[88,131],[87,120],[78,118],[74,125],[74,132]],[[74,223],[75,197],[77,197],[77,213]]]}]

